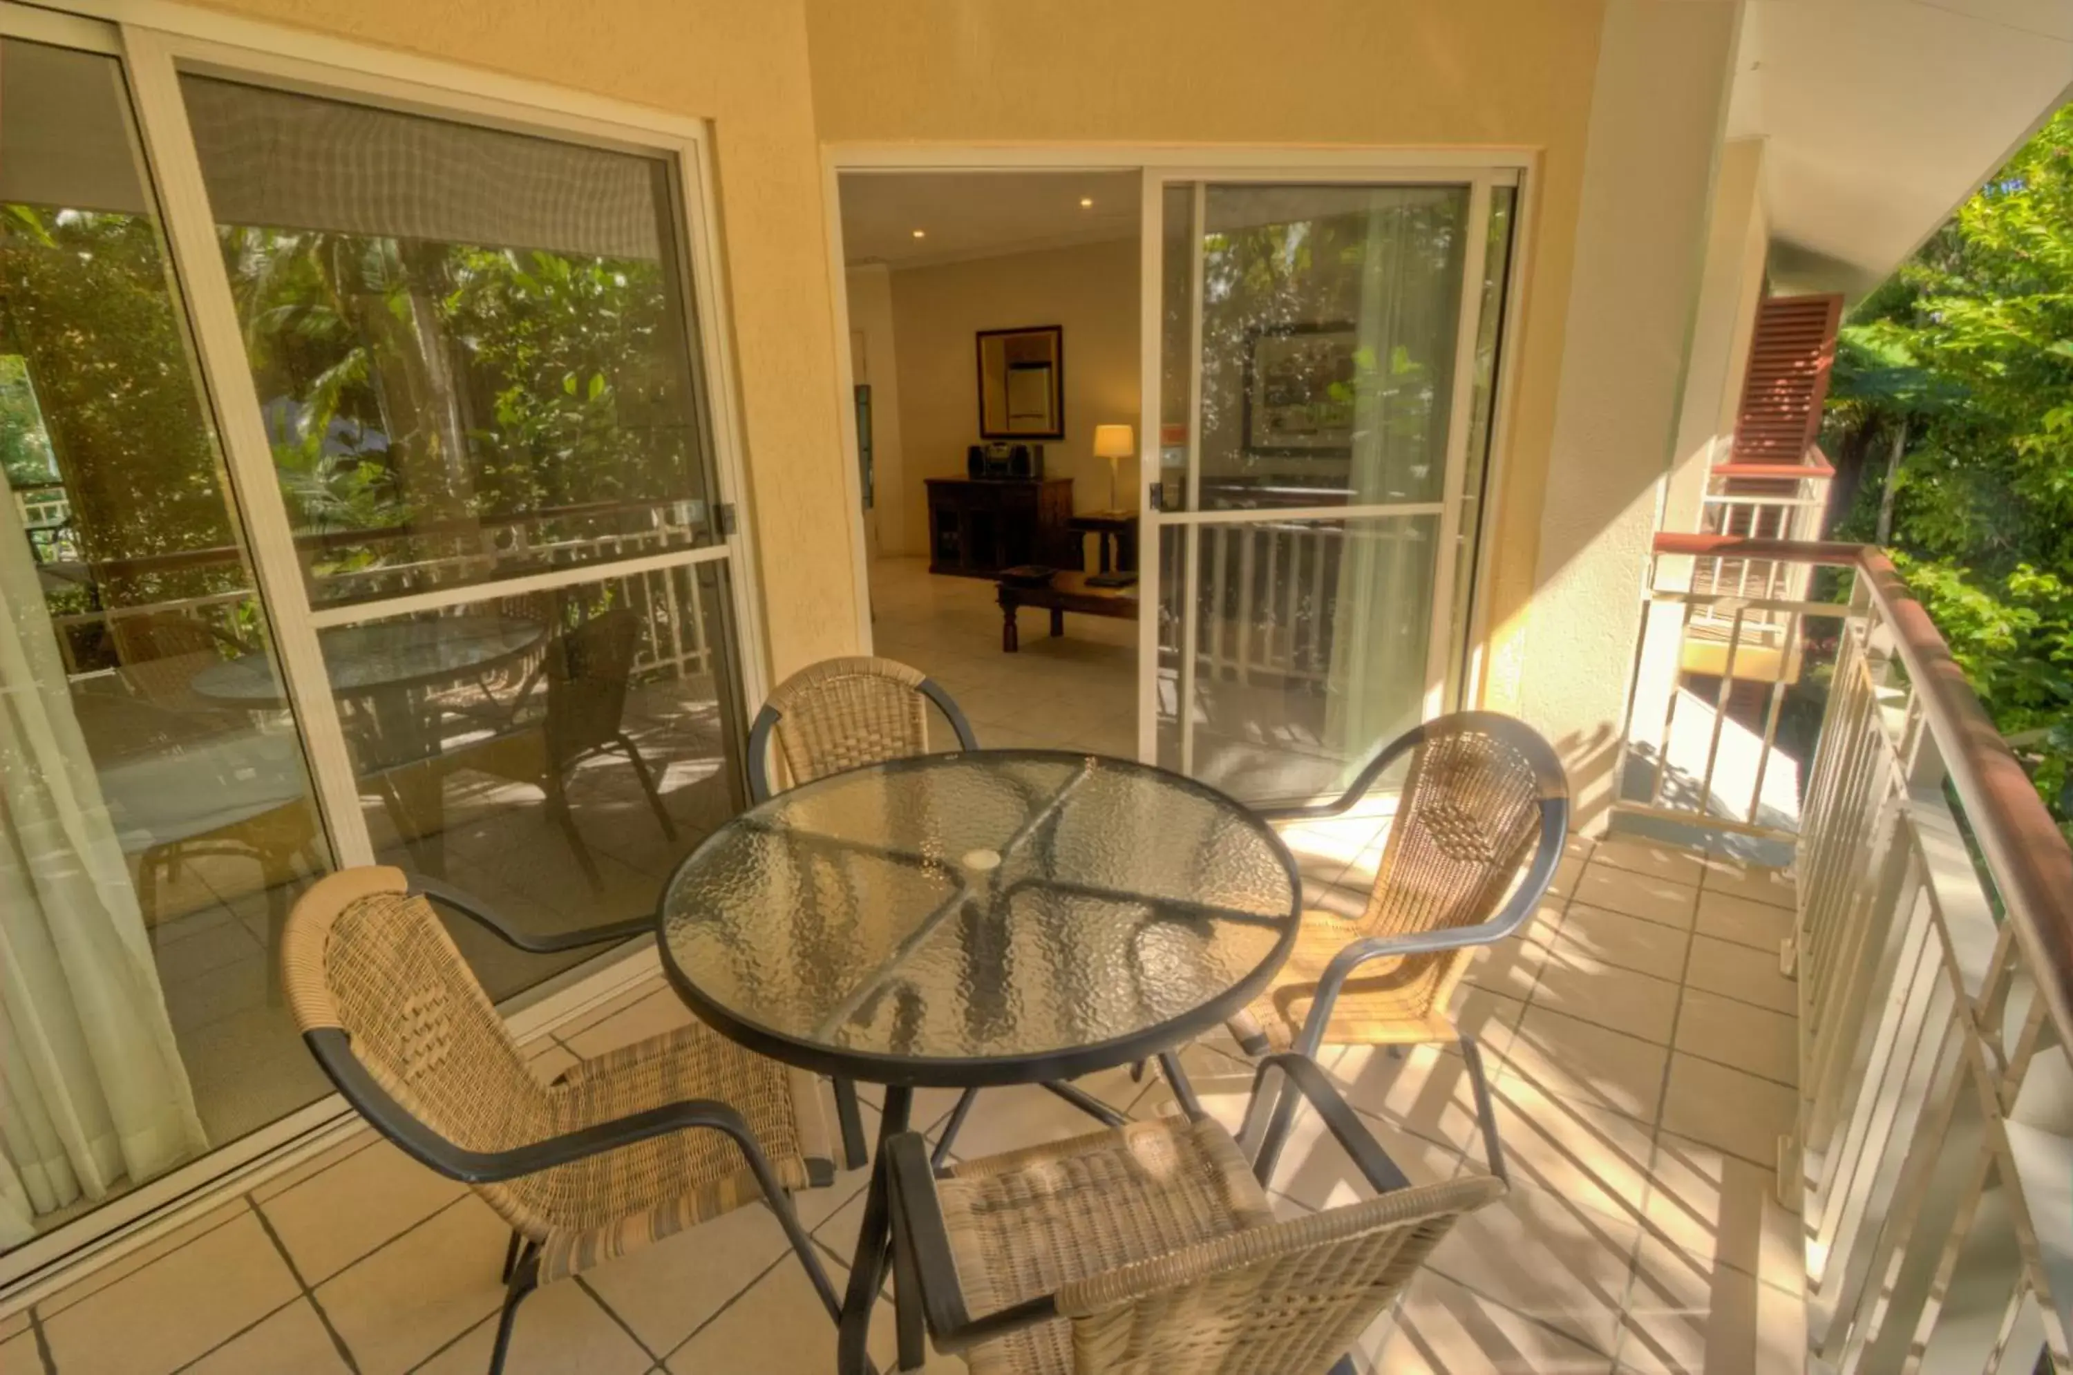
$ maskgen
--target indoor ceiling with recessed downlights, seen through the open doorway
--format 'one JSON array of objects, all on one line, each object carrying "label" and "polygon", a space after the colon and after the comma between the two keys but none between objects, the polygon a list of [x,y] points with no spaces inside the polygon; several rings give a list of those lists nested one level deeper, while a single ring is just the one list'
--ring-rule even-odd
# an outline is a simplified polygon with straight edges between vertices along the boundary
[{"label": "indoor ceiling with recessed downlights, seen through the open doorway", "polygon": [[1136,232],[1136,172],[842,174],[842,255],[852,265],[920,268]]}]

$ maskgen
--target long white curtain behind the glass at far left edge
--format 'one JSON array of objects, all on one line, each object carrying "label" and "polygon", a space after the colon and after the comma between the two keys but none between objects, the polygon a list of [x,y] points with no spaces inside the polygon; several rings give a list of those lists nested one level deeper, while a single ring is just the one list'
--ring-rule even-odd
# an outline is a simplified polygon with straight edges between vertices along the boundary
[{"label": "long white curtain behind the glass at far left edge", "polygon": [[129,867],[0,479],[0,1246],[205,1149]]}]

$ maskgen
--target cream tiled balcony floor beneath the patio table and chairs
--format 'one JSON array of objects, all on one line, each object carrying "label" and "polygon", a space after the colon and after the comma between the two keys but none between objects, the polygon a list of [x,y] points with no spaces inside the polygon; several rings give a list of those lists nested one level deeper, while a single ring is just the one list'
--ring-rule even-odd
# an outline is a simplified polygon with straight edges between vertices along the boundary
[{"label": "cream tiled balcony floor beneath the patio table and chairs", "polygon": [[[1366,819],[1298,836],[1314,902],[1358,900],[1376,834]],[[1490,1060],[1513,1190],[1447,1238],[1366,1334],[1360,1369],[1801,1369],[1799,1219],[1772,1195],[1795,1103],[1793,985],[1777,973],[1789,904],[1774,871],[1638,840],[1571,844],[1555,894],[1478,960],[1455,1004]],[[537,1041],[535,1066],[553,1076],[684,1016],[665,987],[643,987]],[[1233,1122],[1250,1083],[1233,1047],[1219,1037],[1186,1062]],[[1484,1168],[1455,1054],[1327,1062],[1414,1180]],[[1161,1085],[1121,1070],[1084,1087],[1132,1114],[1169,1105]],[[920,1099],[916,1120],[949,1110],[949,1095]],[[958,1147],[981,1155],[1088,1126],[1039,1089],[995,1091]],[[1285,1209],[1331,1207],[1358,1197],[1352,1178],[1308,1128],[1275,1188]],[[798,1201],[837,1284],[862,1182],[850,1172]],[[0,1319],[0,1373],[481,1371],[502,1248],[485,1203],[359,1132]],[[510,1369],[831,1365],[831,1325],[775,1219],[750,1207],[531,1298]],[[929,1369],[958,1365],[931,1356]]]}]

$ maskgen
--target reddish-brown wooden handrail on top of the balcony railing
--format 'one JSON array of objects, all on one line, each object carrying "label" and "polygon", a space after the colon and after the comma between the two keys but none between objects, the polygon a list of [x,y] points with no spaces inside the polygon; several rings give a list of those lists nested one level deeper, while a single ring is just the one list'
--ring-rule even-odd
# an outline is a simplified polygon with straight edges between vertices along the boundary
[{"label": "reddish-brown wooden handrail on top of the balcony railing", "polygon": [[2073,848],[1886,552],[1868,543],[1673,533],[1658,533],[1654,550],[1847,566],[1864,577],[2058,1035],[2073,1045]]}]

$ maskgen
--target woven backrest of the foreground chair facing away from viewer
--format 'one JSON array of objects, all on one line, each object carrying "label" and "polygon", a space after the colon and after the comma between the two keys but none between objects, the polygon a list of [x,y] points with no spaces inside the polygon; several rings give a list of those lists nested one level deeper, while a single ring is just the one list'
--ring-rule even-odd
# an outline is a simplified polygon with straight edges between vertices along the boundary
[{"label": "woven backrest of the foreground chair facing away from viewer", "polygon": [[1325,1375],[1455,1219],[1503,1192],[1493,1176],[1401,1188],[1063,1284],[1072,1369]]}]

